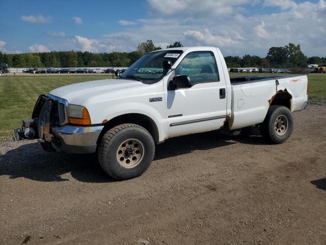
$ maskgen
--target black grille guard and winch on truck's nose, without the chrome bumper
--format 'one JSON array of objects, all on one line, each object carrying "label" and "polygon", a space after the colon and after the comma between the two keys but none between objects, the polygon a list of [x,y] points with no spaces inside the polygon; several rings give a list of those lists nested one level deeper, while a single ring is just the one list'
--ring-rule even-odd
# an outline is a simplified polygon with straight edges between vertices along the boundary
[{"label": "black grille guard and winch on truck's nose, without the chrome bumper", "polygon": [[14,139],[38,139],[44,151],[55,152],[52,143],[56,143],[52,134],[53,126],[67,122],[66,100],[41,94],[34,106],[32,118],[23,119],[20,129],[14,129]]}]

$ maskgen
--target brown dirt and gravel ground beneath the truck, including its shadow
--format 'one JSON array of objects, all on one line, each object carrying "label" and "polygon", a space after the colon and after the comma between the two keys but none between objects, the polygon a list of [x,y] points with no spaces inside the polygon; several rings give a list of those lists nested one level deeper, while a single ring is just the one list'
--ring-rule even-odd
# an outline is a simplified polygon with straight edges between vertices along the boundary
[{"label": "brown dirt and gravel ground beneath the truck, including its shadow", "polygon": [[143,176],[121,182],[92,156],[2,141],[0,243],[326,244],[326,106],[293,117],[280,145],[170,139]]}]

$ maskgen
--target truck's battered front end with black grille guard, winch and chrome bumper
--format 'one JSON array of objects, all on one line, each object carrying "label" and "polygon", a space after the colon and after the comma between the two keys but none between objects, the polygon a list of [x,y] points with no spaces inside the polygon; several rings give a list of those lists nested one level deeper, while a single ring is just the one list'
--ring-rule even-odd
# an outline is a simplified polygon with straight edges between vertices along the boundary
[{"label": "truck's battered front end with black grille guard, winch and chrome bumper", "polygon": [[68,106],[65,99],[41,94],[35,103],[32,118],[23,119],[22,127],[14,130],[14,139],[38,139],[47,152],[60,149],[72,154],[94,153],[104,126],[71,123]]}]

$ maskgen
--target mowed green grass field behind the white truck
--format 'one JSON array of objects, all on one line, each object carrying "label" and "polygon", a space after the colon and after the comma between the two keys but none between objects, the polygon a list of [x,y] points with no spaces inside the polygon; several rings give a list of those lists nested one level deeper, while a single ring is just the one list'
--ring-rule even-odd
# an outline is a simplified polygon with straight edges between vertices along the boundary
[{"label": "mowed green grass field behind the white truck", "polygon": [[[248,74],[230,74],[231,77]],[[268,76],[271,74],[261,74]],[[275,75],[275,74],[273,74]],[[252,76],[260,76],[253,74]],[[9,138],[14,128],[19,128],[22,118],[31,117],[34,104],[41,93],[48,93],[64,85],[112,78],[112,75],[88,76],[2,76],[0,77],[0,138]],[[326,75],[310,74],[309,97],[326,98]]]}]

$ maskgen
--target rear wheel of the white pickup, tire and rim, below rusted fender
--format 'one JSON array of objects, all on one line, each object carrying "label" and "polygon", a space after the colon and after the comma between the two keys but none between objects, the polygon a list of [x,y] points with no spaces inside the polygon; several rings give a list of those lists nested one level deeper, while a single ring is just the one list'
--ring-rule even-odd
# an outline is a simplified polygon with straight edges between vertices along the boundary
[{"label": "rear wheel of the white pickup, tire and rim, below rusted fender", "polygon": [[266,140],[276,144],[283,143],[290,137],[293,130],[290,110],[285,106],[270,106],[259,128],[261,136]]}]

